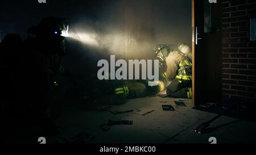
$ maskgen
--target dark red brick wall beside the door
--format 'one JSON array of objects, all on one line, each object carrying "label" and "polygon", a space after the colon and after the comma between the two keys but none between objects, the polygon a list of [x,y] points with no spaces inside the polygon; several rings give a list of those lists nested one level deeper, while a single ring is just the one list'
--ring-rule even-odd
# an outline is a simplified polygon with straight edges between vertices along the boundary
[{"label": "dark red brick wall beside the door", "polygon": [[250,41],[255,0],[222,1],[222,94],[256,102],[256,41]]}]

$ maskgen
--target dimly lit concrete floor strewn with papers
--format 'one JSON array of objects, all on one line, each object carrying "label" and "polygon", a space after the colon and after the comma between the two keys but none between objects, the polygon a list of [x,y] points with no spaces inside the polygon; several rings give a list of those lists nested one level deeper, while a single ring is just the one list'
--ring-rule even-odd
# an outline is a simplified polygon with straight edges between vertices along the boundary
[{"label": "dimly lit concrete floor strewn with papers", "polygon": [[[186,107],[176,106],[174,100],[185,100]],[[166,102],[166,103],[162,103]],[[163,111],[162,104],[172,104],[175,111]],[[96,137],[91,143],[209,143],[209,137],[216,137],[217,143],[255,143],[256,123],[240,120],[200,135],[194,129],[216,116],[209,112],[193,110],[189,99],[145,97],[130,99],[125,104],[112,106],[110,110],[124,111],[147,108],[155,110],[147,115],[133,112],[113,115],[109,111],[86,110],[70,106],[56,124],[62,135],[71,138],[79,132]],[[106,120],[133,120],[132,125],[113,125],[110,131],[99,127]],[[222,116],[211,127],[234,122],[238,119]]]}]

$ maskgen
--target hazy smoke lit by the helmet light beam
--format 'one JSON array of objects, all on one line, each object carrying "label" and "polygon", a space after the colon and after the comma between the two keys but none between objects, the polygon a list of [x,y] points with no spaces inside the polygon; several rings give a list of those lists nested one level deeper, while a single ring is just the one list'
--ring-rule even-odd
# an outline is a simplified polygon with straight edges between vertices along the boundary
[{"label": "hazy smoke lit by the helmet light beam", "polygon": [[154,59],[155,45],[191,44],[191,2],[109,1],[93,16],[77,16],[69,36],[102,57]]}]

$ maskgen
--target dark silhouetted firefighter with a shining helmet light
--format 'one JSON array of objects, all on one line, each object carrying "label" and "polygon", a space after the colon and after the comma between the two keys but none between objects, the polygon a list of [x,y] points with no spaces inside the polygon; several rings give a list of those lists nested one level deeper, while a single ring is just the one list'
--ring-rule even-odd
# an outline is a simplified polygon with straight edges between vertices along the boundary
[{"label": "dark silhouetted firefighter with a shining helmet light", "polygon": [[49,17],[38,26],[28,30],[30,36],[24,40],[22,63],[22,83],[26,87],[22,100],[29,103],[37,122],[42,127],[42,134],[54,136],[58,131],[51,123],[51,103],[56,76],[61,70],[60,57],[66,54],[64,36],[68,30],[67,20]]}]

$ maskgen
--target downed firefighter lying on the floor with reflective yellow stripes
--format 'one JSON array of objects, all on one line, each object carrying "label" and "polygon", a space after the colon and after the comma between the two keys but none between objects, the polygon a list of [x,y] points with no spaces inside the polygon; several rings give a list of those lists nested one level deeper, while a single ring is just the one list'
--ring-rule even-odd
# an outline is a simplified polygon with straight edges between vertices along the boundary
[{"label": "downed firefighter lying on the floor with reflective yellow stripes", "polygon": [[99,80],[92,76],[84,82],[86,86],[82,88],[80,99],[90,104],[88,106],[123,104],[127,99],[156,95],[164,90],[162,81],[148,86],[148,80]]}]

